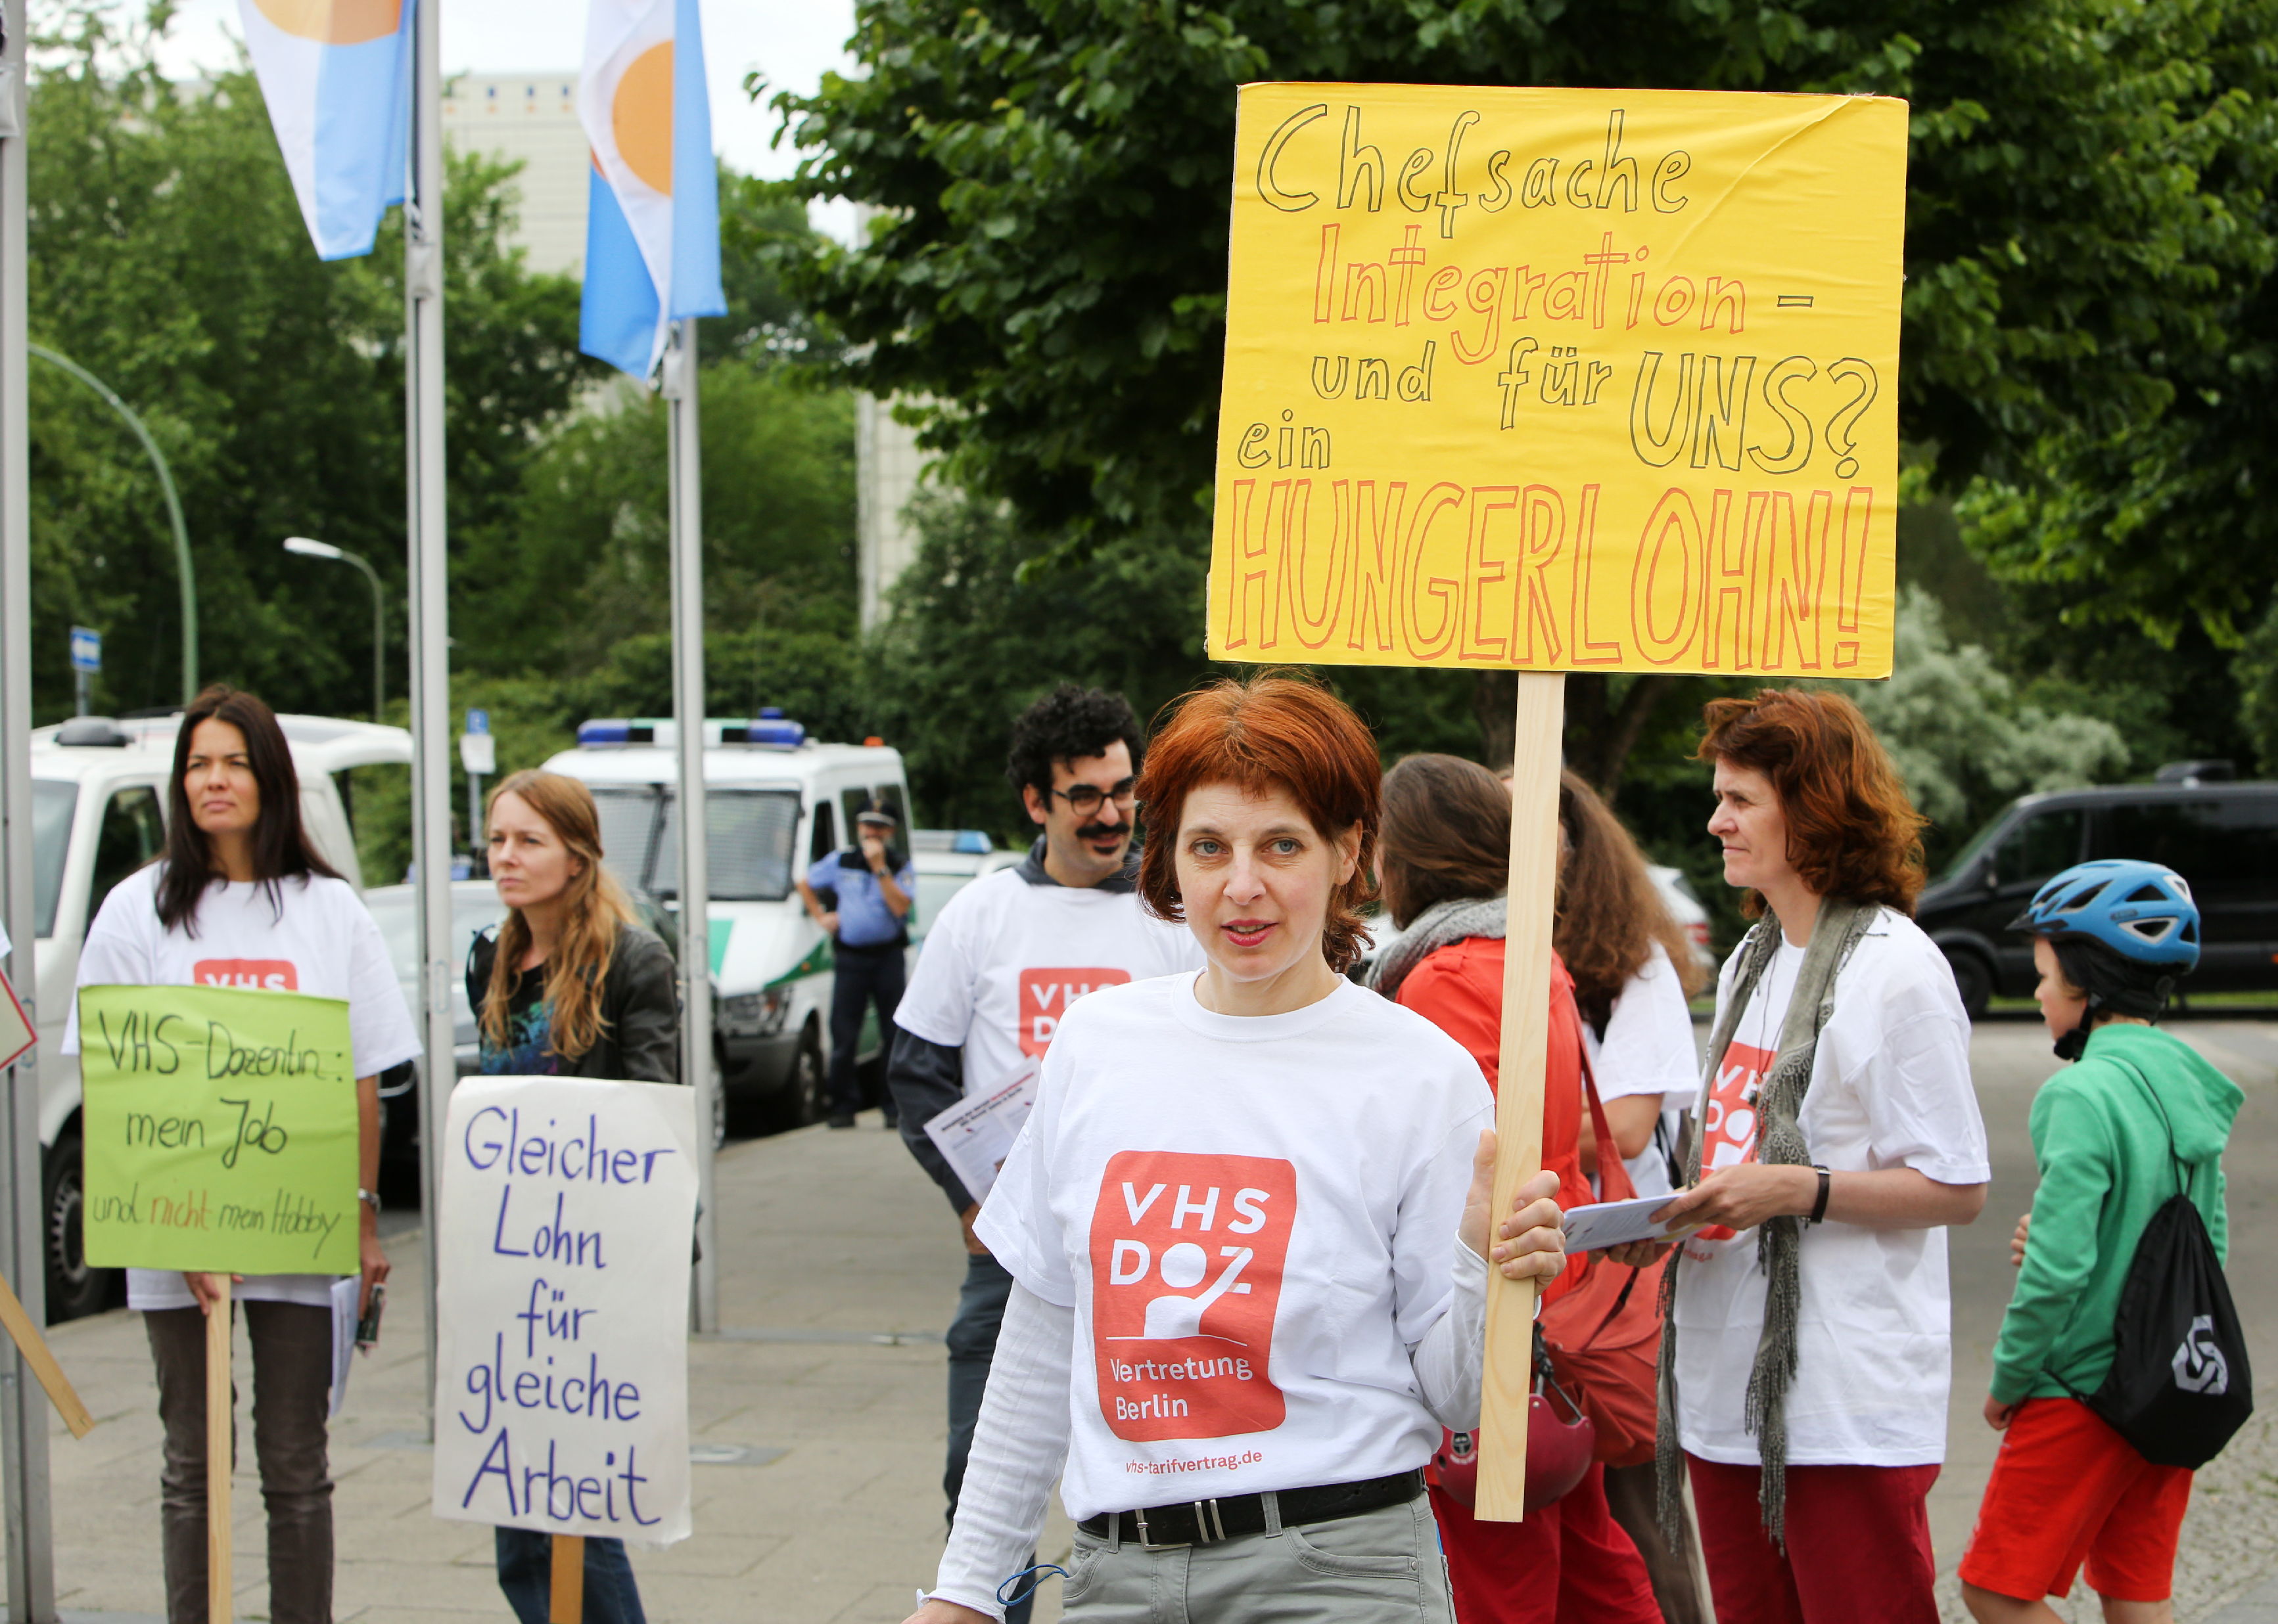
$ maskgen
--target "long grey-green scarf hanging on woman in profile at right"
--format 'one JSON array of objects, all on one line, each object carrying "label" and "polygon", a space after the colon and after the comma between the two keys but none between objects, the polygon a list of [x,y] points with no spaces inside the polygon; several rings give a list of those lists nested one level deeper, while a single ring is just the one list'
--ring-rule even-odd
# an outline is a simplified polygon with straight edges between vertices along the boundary
[{"label": "long grey-green scarf hanging on woman in profile at right", "polygon": [[[1850,963],[1852,950],[1866,936],[1868,925],[1882,909],[1873,902],[1843,902],[1827,897],[1820,902],[1818,922],[1811,927],[1811,945],[1804,950],[1804,966],[1795,975],[1795,993],[1779,1027],[1779,1055],[1772,1071],[1756,1091],[1756,1159],[1768,1166],[1811,1166],[1811,1146],[1804,1143],[1795,1125],[1804,1109],[1804,1093],[1811,1089],[1811,1064],[1818,1057],[1820,1030],[1836,1007],[1836,977]],[[1765,913],[1740,943],[1740,968],[1734,977],[1731,998],[1718,1009],[1715,1032],[1708,1036],[1708,1071],[1715,1077],[1731,1048],[1731,1034],[1740,1025],[1756,982],[1779,952],[1779,916]],[[1686,1189],[1702,1178],[1702,1132],[1693,1123],[1686,1134]],[[1772,1544],[1788,1549],[1788,1387],[1795,1383],[1795,1323],[1802,1310],[1802,1287],[1797,1282],[1797,1248],[1804,1235],[1804,1219],[1784,1214],[1765,1219],[1756,1228],[1756,1266],[1765,1276],[1763,1285],[1763,1335],[1756,1339],[1756,1364],[1747,1378],[1747,1430],[1756,1435],[1756,1458],[1763,1462],[1763,1485],[1756,1503],[1763,1512],[1763,1531]],[[1683,1246],[1670,1257],[1661,1276],[1661,1426],[1654,1437],[1654,1465],[1661,1476],[1661,1526],[1670,1531],[1683,1526],[1679,1496],[1679,1446],[1677,1446],[1677,1271],[1683,1266]]]}]

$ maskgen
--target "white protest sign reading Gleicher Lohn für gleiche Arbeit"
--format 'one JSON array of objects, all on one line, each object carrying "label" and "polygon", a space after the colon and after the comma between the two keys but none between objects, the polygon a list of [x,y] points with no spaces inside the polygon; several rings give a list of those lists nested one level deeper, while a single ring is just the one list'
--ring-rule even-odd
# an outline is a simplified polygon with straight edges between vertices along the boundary
[{"label": "white protest sign reading Gleicher Lohn f\u00fcr gleiche Arbeit", "polygon": [[444,1130],[435,1515],[688,1537],[688,1089],[469,1077]]}]

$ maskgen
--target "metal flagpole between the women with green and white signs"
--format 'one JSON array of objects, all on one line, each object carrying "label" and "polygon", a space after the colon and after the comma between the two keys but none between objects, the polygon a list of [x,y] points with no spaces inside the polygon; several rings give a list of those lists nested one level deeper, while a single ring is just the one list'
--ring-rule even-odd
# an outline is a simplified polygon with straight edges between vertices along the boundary
[{"label": "metal flagpole between the women with green and white signs", "polygon": [[442,34],[440,0],[417,11],[410,200],[403,207],[403,458],[412,579],[412,861],[419,866],[419,993],[426,1077],[419,1086],[419,1200],[426,1260],[426,1410],[435,1437],[435,1235],[442,1121],[458,1080],[451,1030],[451,638],[444,597],[442,396]]}]

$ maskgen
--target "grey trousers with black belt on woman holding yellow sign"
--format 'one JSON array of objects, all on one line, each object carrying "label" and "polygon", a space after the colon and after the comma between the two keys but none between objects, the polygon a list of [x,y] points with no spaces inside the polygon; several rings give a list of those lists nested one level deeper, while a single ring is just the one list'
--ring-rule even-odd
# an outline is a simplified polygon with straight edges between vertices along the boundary
[{"label": "grey trousers with black belt on woman holding yellow sign", "polygon": [[1223,1544],[1146,1551],[1075,1531],[1062,1590],[1084,1624],[1453,1624],[1431,1499]]}]

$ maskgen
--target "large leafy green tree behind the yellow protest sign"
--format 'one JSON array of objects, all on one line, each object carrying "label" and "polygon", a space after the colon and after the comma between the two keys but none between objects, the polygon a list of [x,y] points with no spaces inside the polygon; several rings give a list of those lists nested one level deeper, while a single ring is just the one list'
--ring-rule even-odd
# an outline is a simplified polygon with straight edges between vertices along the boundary
[{"label": "large leafy green tree behind the yellow protest sign", "polygon": [[[806,191],[884,214],[793,287],[854,346],[841,376],[934,401],[948,476],[1009,501],[1032,551],[1198,556],[1237,84],[1907,96],[1902,433],[1959,487],[2144,430],[2178,358],[2223,353],[2226,298],[2269,260],[2253,27],[2223,0],[866,0],[868,75],[777,107]],[[1613,784],[1674,688],[1572,688],[1570,747]]]}]

